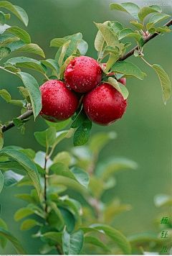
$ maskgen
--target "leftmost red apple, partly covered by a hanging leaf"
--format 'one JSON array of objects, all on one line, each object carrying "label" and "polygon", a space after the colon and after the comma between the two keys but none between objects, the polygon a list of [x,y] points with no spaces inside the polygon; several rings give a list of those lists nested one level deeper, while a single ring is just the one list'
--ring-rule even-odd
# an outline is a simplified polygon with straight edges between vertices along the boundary
[{"label": "leftmost red apple, partly covered by a hanging leaf", "polygon": [[49,80],[40,86],[42,110],[39,115],[50,122],[65,121],[77,110],[77,96],[62,81]]}]

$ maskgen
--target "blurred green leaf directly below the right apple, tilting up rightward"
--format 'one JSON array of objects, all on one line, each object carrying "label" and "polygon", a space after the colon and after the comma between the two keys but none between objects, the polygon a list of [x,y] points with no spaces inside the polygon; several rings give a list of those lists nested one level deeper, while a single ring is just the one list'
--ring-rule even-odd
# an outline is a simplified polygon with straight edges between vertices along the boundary
[{"label": "blurred green leaf directly below the right apple, tilting up rightward", "polygon": [[98,153],[110,140],[115,140],[116,137],[116,132],[97,132],[92,135],[88,146],[93,153]]}]

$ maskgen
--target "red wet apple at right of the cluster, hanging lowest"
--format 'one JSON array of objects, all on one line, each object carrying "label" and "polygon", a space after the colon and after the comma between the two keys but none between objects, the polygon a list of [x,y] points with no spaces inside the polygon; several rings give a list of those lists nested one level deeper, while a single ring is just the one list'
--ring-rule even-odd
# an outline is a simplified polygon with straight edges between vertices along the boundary
[{"label": "red wet apple at right of the cluster, hanging lowest", "polygon": [[110,125],[125,113],[127,99],[110,83],[101,83],[85,95],[85,113],[95,124]]}]

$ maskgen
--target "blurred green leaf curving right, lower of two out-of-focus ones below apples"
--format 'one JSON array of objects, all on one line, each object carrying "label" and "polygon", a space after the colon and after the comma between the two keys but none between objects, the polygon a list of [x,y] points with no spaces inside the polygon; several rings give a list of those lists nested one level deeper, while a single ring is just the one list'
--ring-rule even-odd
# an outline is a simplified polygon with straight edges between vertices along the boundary
[{"label": "blurred green leaf curving right, lower of two out-of-focus ones below apples", "polygon": [[113,173],[117,173],[119,170],[124,168],[135,170],[138,168],[138,165],[133,160],[129,160],[127,158],[108,157],[108,159],[97,164],[95,174],[97,177],[106,179],[108,176],[112,175]]}]

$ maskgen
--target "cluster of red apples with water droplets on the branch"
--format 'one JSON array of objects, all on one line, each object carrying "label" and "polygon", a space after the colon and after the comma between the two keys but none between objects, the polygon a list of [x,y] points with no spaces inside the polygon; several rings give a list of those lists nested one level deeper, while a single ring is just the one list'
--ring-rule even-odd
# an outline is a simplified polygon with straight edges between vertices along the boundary
[{"label": "cluster of red apples with water droplets on the branch", "polygon": [[[123,99],[110,83],[102,81],[102,68],[96,60],[87,56],[74,58],[67,65],[64,78],[65,83],[49,80],[40,86],[40,116],[44,119],[65,121],[75,113],[82,100],[85,114],[96,124],[113,124],[125,113],[127,99]],[[125,78],[118,81],[125,86]]]}]

